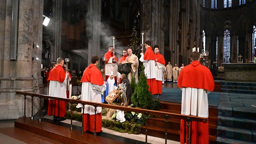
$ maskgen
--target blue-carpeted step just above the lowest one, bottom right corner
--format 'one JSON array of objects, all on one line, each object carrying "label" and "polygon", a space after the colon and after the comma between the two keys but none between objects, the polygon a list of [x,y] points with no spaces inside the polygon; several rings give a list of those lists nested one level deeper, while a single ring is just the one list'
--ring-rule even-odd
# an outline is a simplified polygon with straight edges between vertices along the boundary
[{"label": "blue-carpeted step just above the lowest one, bottom right corner", "polygon": [[256,131],[248,129],[217,126],[217,137],[256,143],[255,134]]}]

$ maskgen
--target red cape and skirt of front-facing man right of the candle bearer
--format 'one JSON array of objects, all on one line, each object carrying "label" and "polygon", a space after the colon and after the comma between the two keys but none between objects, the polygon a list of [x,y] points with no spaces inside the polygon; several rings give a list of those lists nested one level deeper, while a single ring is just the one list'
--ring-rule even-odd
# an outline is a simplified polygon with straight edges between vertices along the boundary
[{"label": "red cape and skirt of front-facing man right of the candle bearer", "polygon": [[[163,64],[165,65],[165,60],[164,60],[164,56],[161,55],[160,53],[157,53],[155,54],[155,57],[156,57],[156,62],[160,63],[160,64]],[[156,68],[156,71],[158,71],[159,69]],[[163,76],[163,69],[160,69],[160,72],[162,73],[162,75],[160,76],[161,77],[161,80],[157,80],[156,79],[156,87],[154,87],[153,89],[153,94],[162,94],[162,91],[163,91],[163,83],[162,83],[162,76]],[[158,76],[156,76],[158,77]]]}]

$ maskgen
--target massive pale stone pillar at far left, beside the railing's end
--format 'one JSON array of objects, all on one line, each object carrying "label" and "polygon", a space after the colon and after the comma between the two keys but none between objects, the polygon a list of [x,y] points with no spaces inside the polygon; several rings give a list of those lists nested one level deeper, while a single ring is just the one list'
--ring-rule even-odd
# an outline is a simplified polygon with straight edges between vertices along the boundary
[{"label": "massive pale stone pillar at far left, beside the railing's end", "polygon": [[[42,6],[38,8],[39,5]],[[39,23],[43,19],[40,16],[40,13],[43,13],[43,0],[19,1],[16,60],[10,60],[12,0],[1,1],[0,11],[2,11],[0,13],[5,13],[5,15],[0,15],[3,16],[0,17],[0,26],[3,28],[0,28],[0,120],[17,119],[24,115],[24,96],[16,95],[15,92],[40,93],[41,78],[37,77],[37,73],[41,72],[38,66],[41,61],[33,63],[32,57],[41,55],[40,48],[33,52],[33,41],[41,45],[40,41],[37,42],[37,38],[41,35],[38,32],[42,27]],[[33,74],[35,74],[34,78]],[[33,112],[36,113],[39,105],[37,99],[33,103]],[[27,96],[26,105],[26,114],[31,116],[31,97],[29,96]]]}]

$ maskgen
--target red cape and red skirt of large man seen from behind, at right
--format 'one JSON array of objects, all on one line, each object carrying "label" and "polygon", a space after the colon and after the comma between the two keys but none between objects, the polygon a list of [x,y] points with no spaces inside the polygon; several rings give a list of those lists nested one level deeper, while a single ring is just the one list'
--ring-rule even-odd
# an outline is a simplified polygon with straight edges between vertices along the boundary
[{"label": "red cape and red skirt of large man seen from behind, at right", "polygon": [[[195,82],[196,81],[196,82]],[[199,61],[192,61],[182,69],[177,80],[179,88],[198,88],[213,91],[215,84],[212,73],[209,69],[200,64]],[[207,104],[208,105],[208,104]],[[191,132],[192,131],[192,132]],[[181,120],[180,123],[180,143],[187,143],[187,122]],[[209,126],[207,123],[192,121],[191,144],[207,144],[209,143]]]}]

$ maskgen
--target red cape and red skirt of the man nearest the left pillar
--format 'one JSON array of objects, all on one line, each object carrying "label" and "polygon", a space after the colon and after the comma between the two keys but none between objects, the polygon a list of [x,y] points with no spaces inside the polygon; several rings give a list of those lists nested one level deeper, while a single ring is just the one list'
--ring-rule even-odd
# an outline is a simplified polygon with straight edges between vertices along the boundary
[{"label": "red cape and red skirt of the man nearest the left pillar", "polygon": [[[48,80],[59,81],[62,83],[65,80],[66,72],[61,65],[57,65],[51,71],[49,71]],[[57,89],[57,88],[56,88]],[[49,116],[64,117],[66,115],[66,103],[61,100],[48,100],[48,111]]]}]

